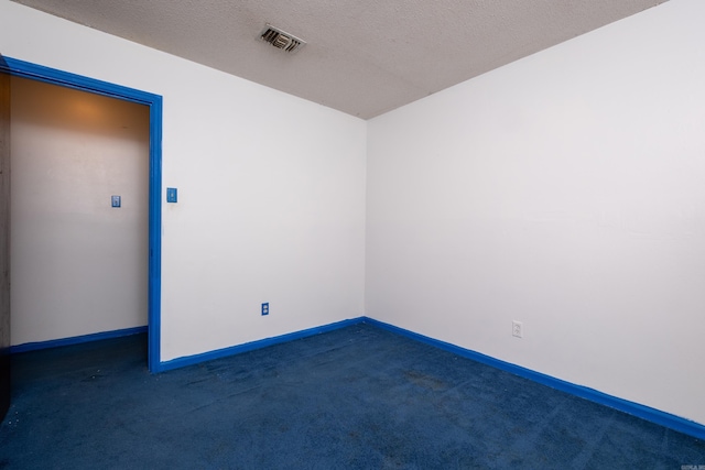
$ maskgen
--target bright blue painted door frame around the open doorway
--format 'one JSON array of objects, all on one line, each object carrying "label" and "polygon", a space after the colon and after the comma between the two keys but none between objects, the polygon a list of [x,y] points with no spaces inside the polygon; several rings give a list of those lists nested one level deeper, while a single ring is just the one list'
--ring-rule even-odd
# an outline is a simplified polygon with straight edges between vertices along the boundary
[{"label": "bright blue painted door frame around the open doorway", "polygon": [[147,91],[3,57],[0,70],[10,75],[59,85],[82,91],[132,101],[150,107],[150,201],[149,201],[149,352],[150,371],[159,369],[161,345],[161,266],[162,266],[162,97]]}]

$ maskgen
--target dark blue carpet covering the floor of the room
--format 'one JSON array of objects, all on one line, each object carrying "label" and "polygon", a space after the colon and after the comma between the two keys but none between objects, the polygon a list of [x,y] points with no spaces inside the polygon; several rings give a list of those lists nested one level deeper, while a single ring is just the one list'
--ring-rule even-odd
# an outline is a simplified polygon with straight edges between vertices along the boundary
[{"label": "dark blue carpet covering the floor of the room", "polygon": [[705,442],[368,325],[159,375],[143,335],[13,357],[8,469],[681,469]]}]

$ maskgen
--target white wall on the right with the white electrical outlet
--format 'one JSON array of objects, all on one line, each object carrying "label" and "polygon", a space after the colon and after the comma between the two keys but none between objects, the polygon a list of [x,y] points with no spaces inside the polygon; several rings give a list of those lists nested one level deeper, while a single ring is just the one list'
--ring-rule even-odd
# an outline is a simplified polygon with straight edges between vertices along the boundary
[{"label": "white wall on the right with the white electrical outlet", "polygon": [[672,0],[369,121],[367,315],[705,423],[703,18]]}]

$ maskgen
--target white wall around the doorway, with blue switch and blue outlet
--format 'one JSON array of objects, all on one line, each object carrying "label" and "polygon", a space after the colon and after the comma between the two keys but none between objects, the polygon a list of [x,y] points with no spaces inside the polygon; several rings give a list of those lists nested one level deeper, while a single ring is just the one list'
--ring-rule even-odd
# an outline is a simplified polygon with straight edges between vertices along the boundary
[{"label": "white wall around the doorway, with blue switch and blue outlet", "polygon": [[163,96],[162,360],[364,314],[365,121],[7,0],[0,50]]}]

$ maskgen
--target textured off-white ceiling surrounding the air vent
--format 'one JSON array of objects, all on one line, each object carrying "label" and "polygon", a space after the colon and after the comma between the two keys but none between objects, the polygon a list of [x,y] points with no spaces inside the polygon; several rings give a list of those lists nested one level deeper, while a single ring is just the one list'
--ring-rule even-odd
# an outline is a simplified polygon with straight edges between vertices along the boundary
[{"label": "textured off-white ceiling surrounding the air vent", "polygon": [[17,1],[369,119],[665,0]]}]

